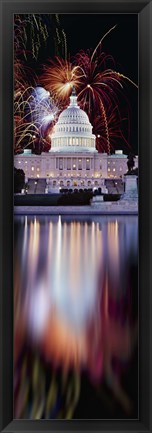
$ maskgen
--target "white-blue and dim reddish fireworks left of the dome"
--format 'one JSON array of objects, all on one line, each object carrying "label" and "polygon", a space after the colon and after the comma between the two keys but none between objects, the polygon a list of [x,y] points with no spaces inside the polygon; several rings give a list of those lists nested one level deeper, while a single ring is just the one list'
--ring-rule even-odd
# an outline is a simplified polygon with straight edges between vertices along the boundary
[{"label": "white-blue and dim reddish fireworks left of the dome", "polygon": [[[66,38],[60,29],[58,15],[15,15],[14,18],[14,150],[20,153],[30,146],[41,151],[48,150],[50,124],[57,113],[53,100],[42,87],[38,87],[35,65],[41,50],[47,45],[49,32],[61,33],[55,49],[60,46],[65,55]],[[63,42],[64,41],[64,42]],[[34,67],[29,64],[34,61]]]}]

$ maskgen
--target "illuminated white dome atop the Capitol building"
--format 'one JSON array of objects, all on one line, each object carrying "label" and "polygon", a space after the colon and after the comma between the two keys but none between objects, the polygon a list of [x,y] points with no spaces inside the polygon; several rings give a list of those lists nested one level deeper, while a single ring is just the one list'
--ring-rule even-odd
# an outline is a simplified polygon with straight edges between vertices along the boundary
[{"label": "illuminated white dome atop the Capitol building", "polygon": [[73,88],[70,104],[59,115],[54,127],[51,136],[51,151],[96,152],[95,139],[89,118],[79,107]]}]

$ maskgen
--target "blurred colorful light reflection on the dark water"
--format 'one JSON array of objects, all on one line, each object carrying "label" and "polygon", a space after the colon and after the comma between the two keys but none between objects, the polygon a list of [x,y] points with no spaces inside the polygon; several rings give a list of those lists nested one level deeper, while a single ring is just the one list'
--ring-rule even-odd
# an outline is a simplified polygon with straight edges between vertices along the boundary
[{"label": "blurred colorful light reflection on the dark water", "polygon": [[137,217],[16,217],[14,248],[14,416],[135,417]]}]

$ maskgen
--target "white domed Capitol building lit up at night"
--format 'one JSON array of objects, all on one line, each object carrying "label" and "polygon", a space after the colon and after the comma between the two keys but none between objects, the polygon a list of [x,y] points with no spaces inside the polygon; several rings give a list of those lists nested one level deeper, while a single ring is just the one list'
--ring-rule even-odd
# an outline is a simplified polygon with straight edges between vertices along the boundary
[{"label": "white domed Capitol building lit up at night", "polygon": [[[23,169],[26,179],[46,179],[47,191],[101,188],[106,192],[106,179],[119,179],[127,172],[127,155],[96,150],[96,136],[85,111],[72,90],[69,106],[59,115],[51,134],[51,150],[41,155],[25,149],[14,157],[16,168]],[[138,166],[138,157],[135,167]]]}]

